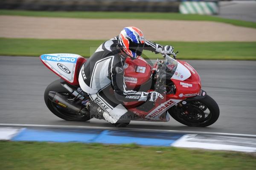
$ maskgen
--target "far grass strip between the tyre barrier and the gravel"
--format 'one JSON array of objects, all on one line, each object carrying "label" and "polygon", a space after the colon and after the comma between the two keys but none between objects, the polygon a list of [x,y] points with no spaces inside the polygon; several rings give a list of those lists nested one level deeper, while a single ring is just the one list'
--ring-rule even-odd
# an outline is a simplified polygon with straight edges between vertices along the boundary
[{"label": "far grass strip between the tyre barrier and the gravel", "polygon": [[125,19],[160,19],[160,20],[204,20],[229,23],[235,26],[256,28],[256,22],[231,20],[209,15],[160,13],[160,12],[45,12],[0,10],[0,15],[20,15],[35,17],[72,17],[72,18],[125,18]]}]

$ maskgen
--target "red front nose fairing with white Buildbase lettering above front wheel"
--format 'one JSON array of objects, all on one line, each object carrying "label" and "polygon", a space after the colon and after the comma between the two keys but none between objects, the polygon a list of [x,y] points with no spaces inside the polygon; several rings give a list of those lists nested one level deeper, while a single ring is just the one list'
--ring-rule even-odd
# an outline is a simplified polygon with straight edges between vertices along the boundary
[{"label": "red front nose fairing with white Buildbase lettering above front wheel", "polygon": [[171,79],[176,86],[175,95],[167,95],[169,98],[182,99],[194,97],[201,90],[201,79],[198,72],[185,61],[179,61],[191,73],[191,76],[184,81]]}]

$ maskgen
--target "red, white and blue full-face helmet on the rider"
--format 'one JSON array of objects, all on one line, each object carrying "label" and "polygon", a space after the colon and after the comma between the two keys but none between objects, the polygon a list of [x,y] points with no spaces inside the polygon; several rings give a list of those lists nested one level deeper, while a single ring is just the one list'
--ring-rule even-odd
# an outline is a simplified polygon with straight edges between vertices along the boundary
[{"label": "red, white and blue full-face helmet on the rider", "polygon": [[134,27],[125,27],[119,34],[119,47],[131,58],[139,58],[145,45],[143,32]]}]

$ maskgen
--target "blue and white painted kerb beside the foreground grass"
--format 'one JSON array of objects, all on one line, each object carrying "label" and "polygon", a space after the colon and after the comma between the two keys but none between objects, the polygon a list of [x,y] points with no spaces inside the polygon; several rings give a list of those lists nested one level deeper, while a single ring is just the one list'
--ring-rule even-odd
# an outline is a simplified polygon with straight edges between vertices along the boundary
[{"label": "blue and white painted kerb beside the foreground grass", "polygon": [[135,143],[145,146],[256,152],[256,138],[169,132],[135,132],[129,130],[0,127],[0,140],[102,144]]}]

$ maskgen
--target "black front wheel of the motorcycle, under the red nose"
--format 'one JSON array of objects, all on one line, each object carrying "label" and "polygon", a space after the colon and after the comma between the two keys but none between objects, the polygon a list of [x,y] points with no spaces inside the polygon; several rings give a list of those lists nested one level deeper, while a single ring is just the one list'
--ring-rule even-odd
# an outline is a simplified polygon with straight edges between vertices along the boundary
[{"label": "black front wheel of the motorcycle, under the red nose", "polygon": [[215,123],[220,114],[218,104],[209,95],[197,101],[177,104],[168,112],[176,121],[191,127],[207,127]]}]

